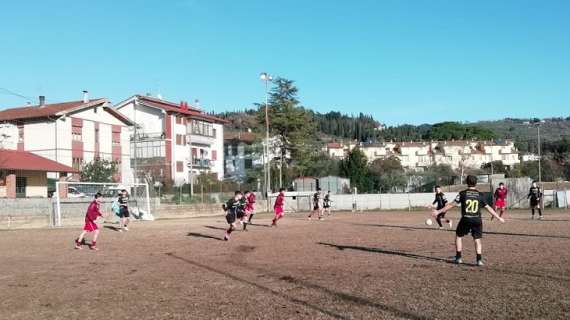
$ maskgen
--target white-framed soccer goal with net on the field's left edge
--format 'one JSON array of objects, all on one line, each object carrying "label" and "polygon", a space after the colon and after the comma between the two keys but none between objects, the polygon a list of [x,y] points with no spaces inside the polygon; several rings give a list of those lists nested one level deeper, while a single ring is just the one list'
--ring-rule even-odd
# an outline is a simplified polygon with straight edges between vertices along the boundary
[{"label": "white-framed soccer goal with net on the field's left edge", "polygon": [[112,204],[118,198],[121,190],[129,193],[129,211],[131,217],[141,220],[154,220],[151,212],[149,187],[146,183],[123,185],[120,183],[71,182],[58,181],[53,194],[53,210],[50,219],[54,227],[81,224],[87,207],[93,201],[95,194],[100,192],[103,197],[101,211],[110,212],[106,222],[118,221],[112,212]]}]

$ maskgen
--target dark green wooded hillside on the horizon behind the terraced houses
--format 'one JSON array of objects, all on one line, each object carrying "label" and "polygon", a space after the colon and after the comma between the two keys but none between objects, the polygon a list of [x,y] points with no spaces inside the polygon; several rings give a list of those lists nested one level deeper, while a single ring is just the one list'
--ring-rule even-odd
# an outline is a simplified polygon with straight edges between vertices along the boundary
[{"label": "dark green wooded hillside on the horizon behind the terraced houses", "polygon": [[[523,152],[536,152],[537,130],[529,119],[503,119],[462,124],[400,125],[385,127],[369,115],[347,115],[340,112],[316,113],[307,110],[316,123],[317,135],[323,141],[358,140],[361,142],[445,140],[445,139],[512,139]],[[263,114],[257,110],[226,112],[217,116],[228,119],[229,131],[264,132]],[[537,122],[539,119],[533,119]],[[544,142],[570,138],[570,117],[548,118],[541,123]]]}]

